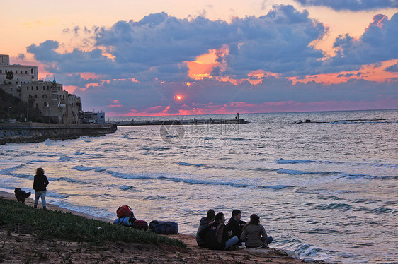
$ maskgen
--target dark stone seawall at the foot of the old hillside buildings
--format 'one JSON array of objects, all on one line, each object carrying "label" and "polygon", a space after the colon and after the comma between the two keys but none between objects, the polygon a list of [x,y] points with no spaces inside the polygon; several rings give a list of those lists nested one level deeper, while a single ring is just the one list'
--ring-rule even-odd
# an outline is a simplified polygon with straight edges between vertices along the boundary
[{"label": "dark stone seawall at the foot of the old hillside buildings", "polygon": [[103,136],[115,133],[116,130],[115,124],[4,123],[0,124],[0,145],[42,142],[47,139],[66,140],[81,136]]}]

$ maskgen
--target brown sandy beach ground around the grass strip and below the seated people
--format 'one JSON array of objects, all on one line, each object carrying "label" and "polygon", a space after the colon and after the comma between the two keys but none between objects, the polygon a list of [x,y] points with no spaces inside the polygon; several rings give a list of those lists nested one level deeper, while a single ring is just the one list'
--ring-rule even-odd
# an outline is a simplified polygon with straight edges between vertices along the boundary
[{"label": "brown sandy beach ground around the grass strip and below the seated people", "polygon": [[[13,193],[0,192],[0,198],[16,200]],[[33,206],[28,198],[26,205]],[[39,203],[40,205],[40,203]],[[74,212],[57,205],[47,204],[48,210],[71,212],[81,217],[108,221],[81,212]],[[288,256],[290,252],[278,248],[268,250],[210,251],[196,245],[195,236],[169,235],[187,244],[187,248],[176,246],[127,244],[105,241],[101,246],[76,243],[59,239],[38,239],[35,234],[9,233],[0,229],[1,263],[321,263]]]}]

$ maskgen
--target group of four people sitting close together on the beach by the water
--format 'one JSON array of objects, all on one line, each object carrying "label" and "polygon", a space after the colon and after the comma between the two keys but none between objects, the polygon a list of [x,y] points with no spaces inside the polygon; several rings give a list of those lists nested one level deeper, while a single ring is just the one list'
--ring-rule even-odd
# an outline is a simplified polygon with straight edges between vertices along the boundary
[{"label": "group of four people sitting close together on the beach by the water", "polygon": [[201,248],[216,250],[234,249],[246,244],[246,248],[267,248],[272,236],[267,236],[266,229],[260,224],[258,215],[251,215],[248,223],[241,221],[241,211],[233,210],[227,224],[222,212],[215,215],[208,210],[206,217],[200,219],[196,242]]}]

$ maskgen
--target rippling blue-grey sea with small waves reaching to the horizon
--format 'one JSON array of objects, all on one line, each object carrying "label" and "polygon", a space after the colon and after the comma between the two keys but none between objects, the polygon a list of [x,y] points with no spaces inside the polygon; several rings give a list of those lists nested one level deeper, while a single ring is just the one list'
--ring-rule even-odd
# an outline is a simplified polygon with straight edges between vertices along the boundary
[{"label": "rippling blue-grey sea with small waves reaching to the horizon", "polygon": [[[234,114],[109,121],[234,119]],[[249,124],[119,126],[101,137],[0,146],[0,191],[109,220],[196,233],[207,210],[251,214],[275,248],[332,263],[398,263],[398,110],[240,114]],[[311,120],[306,123],[305,120]]]}]

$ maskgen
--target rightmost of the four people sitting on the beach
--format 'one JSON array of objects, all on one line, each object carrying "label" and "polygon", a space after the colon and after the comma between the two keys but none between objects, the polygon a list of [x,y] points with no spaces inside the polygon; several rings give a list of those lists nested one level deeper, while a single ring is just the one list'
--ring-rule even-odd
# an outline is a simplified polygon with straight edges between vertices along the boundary
[{"label": "rightmost of the four people sitting on the beach", "polygon": [[272,236],[268,236],[266,229],[260,224],[260,217],[253,214],[241,233],[241,241],[246,241],[246,248],[267,248],[272,242]]}]

